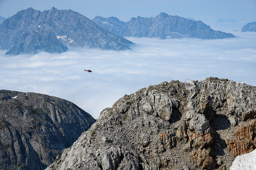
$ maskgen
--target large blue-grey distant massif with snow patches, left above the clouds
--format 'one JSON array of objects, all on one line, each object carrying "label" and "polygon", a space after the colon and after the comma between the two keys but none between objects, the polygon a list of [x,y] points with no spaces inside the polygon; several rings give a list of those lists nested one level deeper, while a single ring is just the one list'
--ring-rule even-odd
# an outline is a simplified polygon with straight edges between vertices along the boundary
[{"label": "large blue-grey distant massif with snow patches, left above the clouds", "polygon": [[[58,40],[59,39],[59,40]],[[6,54],[31,52],[64,52],[65,45],[125,50],[132,44],[91,19],[72,10],[43,12],[28,8],[17,12],[0,25],[0,49]]]}]

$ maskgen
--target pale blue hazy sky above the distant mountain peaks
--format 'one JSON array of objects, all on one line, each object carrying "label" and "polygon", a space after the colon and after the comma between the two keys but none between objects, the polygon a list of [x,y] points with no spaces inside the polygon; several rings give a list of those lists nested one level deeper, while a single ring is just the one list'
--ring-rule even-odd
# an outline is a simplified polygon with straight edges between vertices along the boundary
[{"label": "pale blue hazy sky above the distant mountain peaks", "polygon": [[[21,3],[22,2],[22,3]],[[44,11],[52,6],[72,9],[92,19],[96,15],[116,16],[128,21],[131,17],[155,17],[160,12],[190,17],[204,22],[231,18],[242,22],[256,21],[256,0],[0,0],[0,16],[9,17],[32,7]]]}]

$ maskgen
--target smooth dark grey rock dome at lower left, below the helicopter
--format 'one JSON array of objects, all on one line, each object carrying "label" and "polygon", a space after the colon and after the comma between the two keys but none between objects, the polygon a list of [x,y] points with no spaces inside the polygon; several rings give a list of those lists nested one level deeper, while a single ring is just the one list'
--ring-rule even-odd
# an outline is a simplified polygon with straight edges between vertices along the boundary
[{"label": "smooth dark grey rock dome at lower left, below the helicopter", "polygon": [[0,90],[0,169],[45,169],[95,121],[58,97]]}]

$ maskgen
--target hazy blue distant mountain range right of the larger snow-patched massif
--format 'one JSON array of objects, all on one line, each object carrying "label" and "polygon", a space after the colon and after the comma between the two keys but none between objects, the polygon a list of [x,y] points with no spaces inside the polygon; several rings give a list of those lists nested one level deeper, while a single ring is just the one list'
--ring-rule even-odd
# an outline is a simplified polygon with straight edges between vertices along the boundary
[{"label": "hazy blue distant mountain range right of the larger snow-patched massif", "polygon": [[92,19],[106,30],[122,37],[159,37],[180,38],[193,37],[201,39],[222,39],[235,37],[233,34],[215,31],[202,21],[194,21],[179,16],[161,12],[155,18],[131,18],[128,22],[120,21],[116,17],[103,18],[96,16]]}]

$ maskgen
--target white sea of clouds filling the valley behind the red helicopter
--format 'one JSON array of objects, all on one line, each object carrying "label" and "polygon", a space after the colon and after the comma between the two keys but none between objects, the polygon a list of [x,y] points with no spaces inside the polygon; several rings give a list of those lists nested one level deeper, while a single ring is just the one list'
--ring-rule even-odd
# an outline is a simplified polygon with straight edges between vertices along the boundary
[{"label": "white sea of clouds filling the valley behind the red helicopter", "polygon": [[[213,27],[225,31],[224,26]],[[104,108],[125,94],[162,81],[213,76],[256,86],[256,33],[230,27],[227,32],[236,38],[129,37],[134,45],[125,51],[70,47],[61,54],[17,56],[0,51],[0,89],[64,98],[97,119]]]}]

